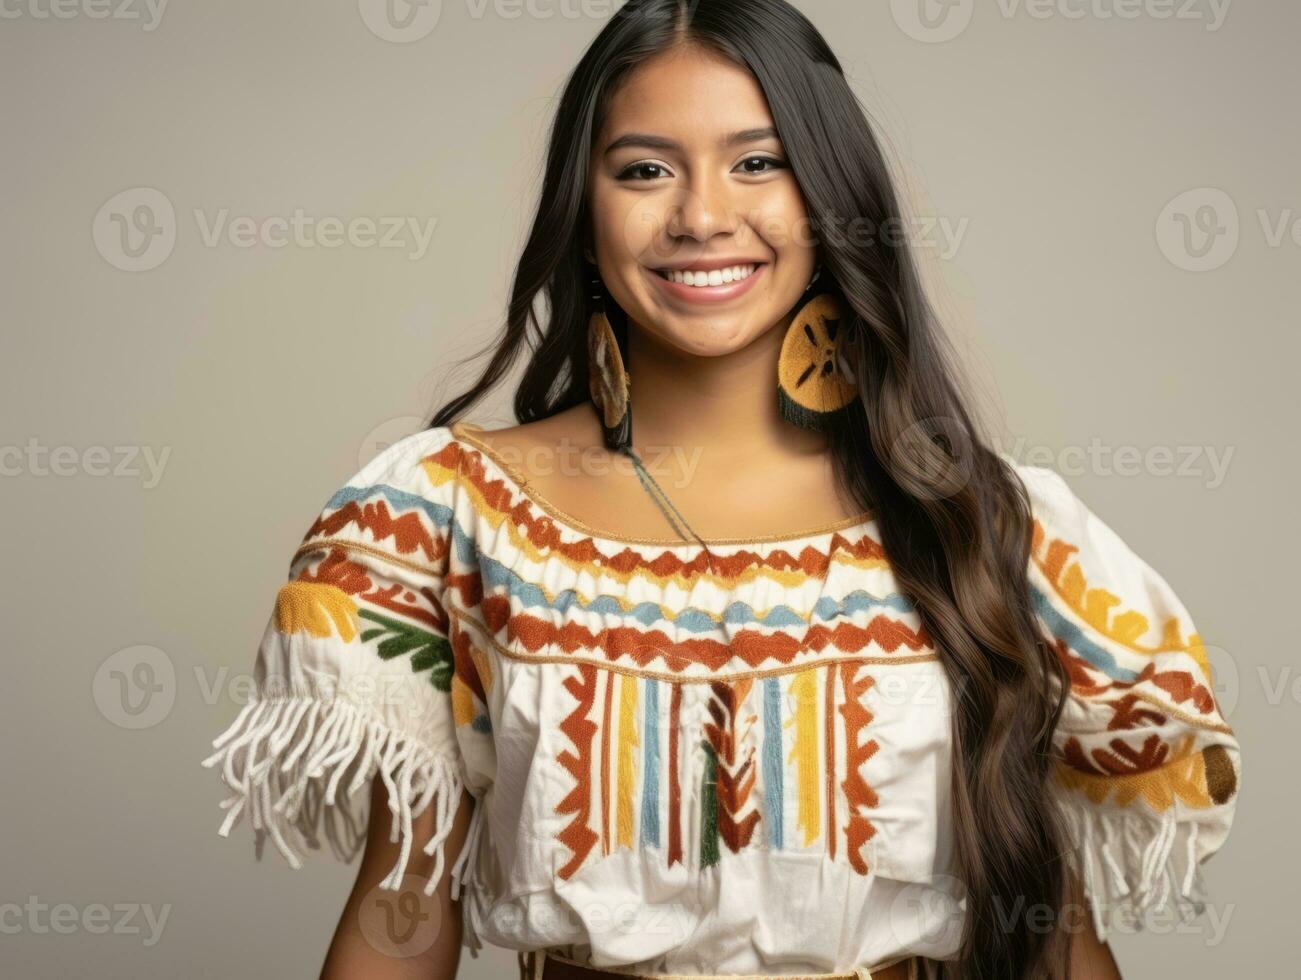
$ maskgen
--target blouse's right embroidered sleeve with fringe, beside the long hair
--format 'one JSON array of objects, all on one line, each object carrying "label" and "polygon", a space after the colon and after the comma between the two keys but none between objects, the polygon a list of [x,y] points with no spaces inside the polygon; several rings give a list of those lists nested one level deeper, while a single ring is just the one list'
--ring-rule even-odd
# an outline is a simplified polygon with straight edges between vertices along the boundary
[{"label": "blouse's right embroidered sleeve with fringe, beside the long hair", "polygon": [[1066,479],[1016,465],[1034,517],[1030,597],[1069,677],[1051,791],[1098,936],[1206,905],[1201,864],[1228,837],[1239,742],[1170,583]]}]

